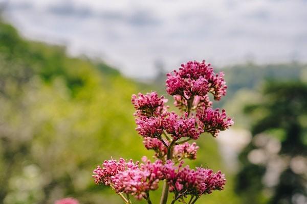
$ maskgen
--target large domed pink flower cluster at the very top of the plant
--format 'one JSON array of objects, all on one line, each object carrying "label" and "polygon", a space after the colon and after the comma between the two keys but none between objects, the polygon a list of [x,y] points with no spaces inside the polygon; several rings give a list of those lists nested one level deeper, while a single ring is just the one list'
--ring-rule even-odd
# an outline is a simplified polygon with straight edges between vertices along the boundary
[{"label": "large domed pink flower cluster at the very top of the plant", "polygon": [[178,71],[167,74],[166,91],[170,95],[181,95],[186,99],[192,96],[205,96],[211,92],[215,100],[220,100],[226,94],[224,74],[215,74],[210,64],[202,62],[187,62]]}]

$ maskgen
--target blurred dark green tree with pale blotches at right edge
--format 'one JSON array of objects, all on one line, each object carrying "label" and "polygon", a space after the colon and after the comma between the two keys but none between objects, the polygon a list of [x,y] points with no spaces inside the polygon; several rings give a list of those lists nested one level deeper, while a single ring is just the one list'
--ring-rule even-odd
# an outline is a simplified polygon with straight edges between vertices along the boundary
[{"label": "blurred dark green tree with pale blotches at right edge", "polygon": [[253,119],[252,141],[240,153],[236,191],[245,203],[306,203],[307,84],[267,82]]}]

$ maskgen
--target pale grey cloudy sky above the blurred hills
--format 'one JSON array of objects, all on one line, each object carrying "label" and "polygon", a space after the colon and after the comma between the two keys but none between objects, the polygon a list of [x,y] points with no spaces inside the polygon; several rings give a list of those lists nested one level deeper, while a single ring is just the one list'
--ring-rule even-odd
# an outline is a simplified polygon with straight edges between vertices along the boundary
[{"label": "pale grey cloudy sky above the blurred hills", "polygon": [[128,77],[189,60],[223,67],[307,61],[306,0],[0,0],[21,35],[67,45]]}]

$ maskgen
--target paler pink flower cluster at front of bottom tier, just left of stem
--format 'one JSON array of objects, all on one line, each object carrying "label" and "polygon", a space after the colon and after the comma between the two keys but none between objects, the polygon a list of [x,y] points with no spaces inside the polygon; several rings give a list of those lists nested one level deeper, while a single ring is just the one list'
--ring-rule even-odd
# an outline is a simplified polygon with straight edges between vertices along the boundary
[{"label": "paler pink flower cluster at front of bottom tier, just left of stem", "polygon": [[134,195],[137,199],[146,198],[148,191],[156,190],[159,181],[164,179],[162,161],[151,163],[149,160],[139,168],[127,169],[112,176],[115,190]]}]

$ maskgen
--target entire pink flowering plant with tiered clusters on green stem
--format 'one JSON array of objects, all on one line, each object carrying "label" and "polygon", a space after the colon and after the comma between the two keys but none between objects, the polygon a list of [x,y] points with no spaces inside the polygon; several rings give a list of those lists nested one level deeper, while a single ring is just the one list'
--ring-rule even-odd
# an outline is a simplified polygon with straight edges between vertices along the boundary
[{"label": "entire pink flowering plant with tiered clusters on green stem", "polygon": [[226,179],[221,171],[190,169],[183,162],[195,160],[199,149],[189,140],[198,139],[204,132],[216,137],[233,124],[225,110],[212,109],[208,96],[212,94],[214,100],[220,100],[226,94],[223,77],[223,72],[214,73],[205,61],[188,62],[168,73],[166,91],[173,96],[181,115],[169,112],[167,99],[157,92],[133,95],[136,130],[144,138],[144,146],[155,151],[156,161],[146,157],[142,158],[143,163],[122,158],[104,161],[94,170],[95,183],[111,187],[127,204],[131,204],[130,195],[150,204],[149,193],[158,189],[160,181],[164,181],[160,204],[167,202],[169,192],[173,193],[171,203],[193,204],[203,194],[223,190]]}]

